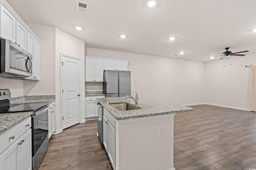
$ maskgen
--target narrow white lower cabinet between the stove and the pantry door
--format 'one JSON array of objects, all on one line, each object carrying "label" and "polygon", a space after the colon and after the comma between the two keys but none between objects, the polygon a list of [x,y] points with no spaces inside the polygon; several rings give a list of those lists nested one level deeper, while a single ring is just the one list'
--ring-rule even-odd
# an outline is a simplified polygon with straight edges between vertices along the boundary
[{"label": "narrow white lower cabinet between the stove and the pantry door", "polygon": [[48,109],[48,137],[51,138],[55,131],[55,102],[49,104]]}]

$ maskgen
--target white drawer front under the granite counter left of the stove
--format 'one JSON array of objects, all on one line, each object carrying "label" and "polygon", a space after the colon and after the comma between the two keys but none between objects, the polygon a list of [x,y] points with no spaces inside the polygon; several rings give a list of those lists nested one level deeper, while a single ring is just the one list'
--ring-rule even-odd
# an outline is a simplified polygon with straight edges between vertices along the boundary
[{"label": "white drawer front under the granite counter left of the stove", "polygon": [[[14,143],[23,133],[29,130],[31,127],[31,117],[21,121],[11,129],[8,129],[2,135],[0,135],[0,153],[7,149],[12,143]],[[14,137],[11,139],[11,137]]]}]

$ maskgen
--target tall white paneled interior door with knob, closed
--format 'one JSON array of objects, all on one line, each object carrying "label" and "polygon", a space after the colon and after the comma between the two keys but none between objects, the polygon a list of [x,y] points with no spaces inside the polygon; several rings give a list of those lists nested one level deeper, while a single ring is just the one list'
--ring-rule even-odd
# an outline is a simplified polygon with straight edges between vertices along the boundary
[{"label": "tall white paneled interior door with knob, closed", "polygon": [[80,123],[81,61],[62,55],[62,129]]}]

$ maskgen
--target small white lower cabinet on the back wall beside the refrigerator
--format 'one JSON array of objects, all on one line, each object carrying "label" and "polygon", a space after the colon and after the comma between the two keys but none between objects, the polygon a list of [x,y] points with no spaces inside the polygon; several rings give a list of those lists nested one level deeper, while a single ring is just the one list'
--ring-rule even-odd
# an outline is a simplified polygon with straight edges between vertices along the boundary
[{"label": "small white lower cabinet on the back wall beside the refrigerator", "polygon": [[98,119],[98,107],[96,98],[105,98],[105,96],[87,96],[85,97],[85,118],[88,120]]}]

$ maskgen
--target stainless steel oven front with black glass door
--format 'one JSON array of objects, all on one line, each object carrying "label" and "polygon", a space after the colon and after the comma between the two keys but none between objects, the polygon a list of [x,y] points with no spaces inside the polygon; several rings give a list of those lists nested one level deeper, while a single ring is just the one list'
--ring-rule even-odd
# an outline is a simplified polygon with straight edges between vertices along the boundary
[{"label": "stainless steel oven front with black glass door", "polygon": [[48,150],[48,105],[32,114],[32,167],[37,170]]}]

